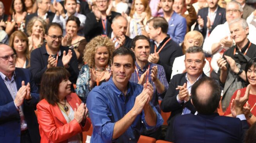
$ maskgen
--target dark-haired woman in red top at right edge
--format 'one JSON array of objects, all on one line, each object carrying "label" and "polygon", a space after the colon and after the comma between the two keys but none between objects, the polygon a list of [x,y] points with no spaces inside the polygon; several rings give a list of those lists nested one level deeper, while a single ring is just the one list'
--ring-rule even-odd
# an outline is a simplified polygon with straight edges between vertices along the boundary
[{"label": "dark-haired woman in red top at right edge", "polygon": [[[244,105],[244,114],[248,124],[252,125],[256,122],[256,58],[252,58],[245,65],[245,73],[247,82],[250,84],[251,88],[249,89],[249,100]],[[243,97],[246,92],[246,87],[238,89],[234,92],[233,96],[231,97],[229,106],[224,113],[225,116],[236,117],[234,101],[238,91],[240,91],[240,97]]]}]

